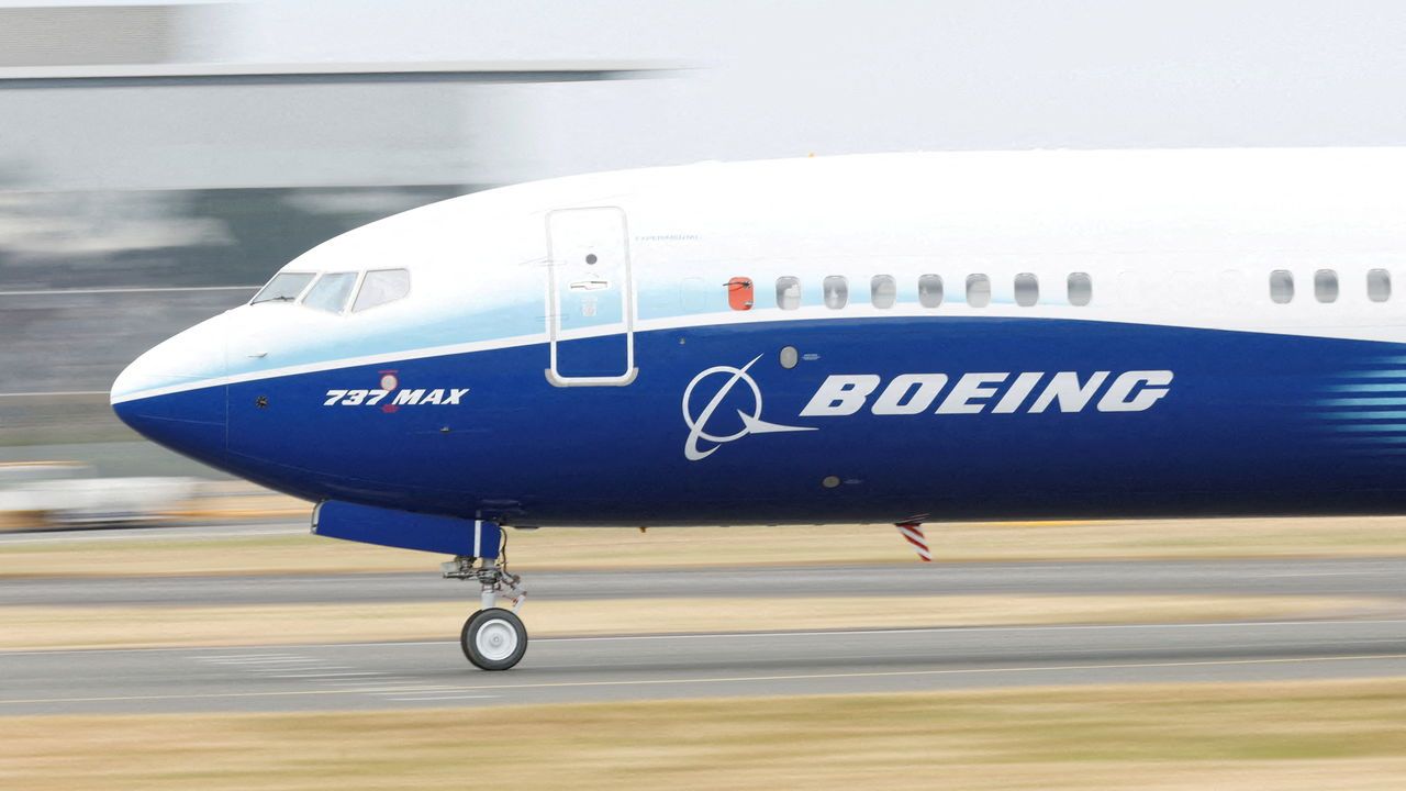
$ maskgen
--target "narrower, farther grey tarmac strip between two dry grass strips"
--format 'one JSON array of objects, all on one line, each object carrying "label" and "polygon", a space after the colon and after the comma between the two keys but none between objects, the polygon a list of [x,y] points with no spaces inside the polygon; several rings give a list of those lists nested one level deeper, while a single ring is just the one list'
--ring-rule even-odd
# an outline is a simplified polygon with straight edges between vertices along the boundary
[{"label": "narrower, farther grey tarmac strip between two dry grass strips", "polygon": [[[24,569],[17,571],[22,574]],[[1239,594],[1406,600],[1406,559],[1088,560],[533,571],[533,598]],[[236,605],[470,601],[477,590],[425,573],[0,577],[4,605]]]}]

